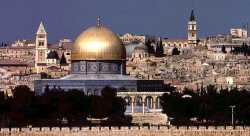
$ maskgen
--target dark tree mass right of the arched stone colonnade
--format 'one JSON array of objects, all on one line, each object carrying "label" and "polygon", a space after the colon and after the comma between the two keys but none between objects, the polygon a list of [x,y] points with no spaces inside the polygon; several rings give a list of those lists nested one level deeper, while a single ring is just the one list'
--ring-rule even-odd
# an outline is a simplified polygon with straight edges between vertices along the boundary
[{"label": "dark tree mass right of the arched stone colonnade", "polygon": [[175,125],[230,125],[235,106],[234,123],[250,125],[250,92],[238,88],[217,89],[209,85],[205,89],[183,92],[172,90],[161,97],[163,113]]}]

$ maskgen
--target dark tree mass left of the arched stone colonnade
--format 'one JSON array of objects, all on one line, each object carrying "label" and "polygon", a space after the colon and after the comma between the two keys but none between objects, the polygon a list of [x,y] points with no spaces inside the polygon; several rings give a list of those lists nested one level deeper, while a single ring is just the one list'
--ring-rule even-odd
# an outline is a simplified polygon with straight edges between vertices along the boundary
[{"label": "dark tree mass left of the arched stone colonnade", "polygon": [[105,119],[99,125],[126,124],[125,101],[116,96],[116,89],[105,87],[102,95],[85,95],[81,90],[49,89],[36,96],[25,85],[13,90],[13,97],[0,94],[0,126],[91,125],[90,119]]}]

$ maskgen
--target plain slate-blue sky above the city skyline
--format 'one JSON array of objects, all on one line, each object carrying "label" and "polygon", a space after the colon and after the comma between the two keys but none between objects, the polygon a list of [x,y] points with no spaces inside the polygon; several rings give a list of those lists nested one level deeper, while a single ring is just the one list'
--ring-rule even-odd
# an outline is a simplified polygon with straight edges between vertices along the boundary
[{"label": "plain slate-blue sky above the city skyline", "polygon": [[50,42],[75,39],[97,16],[119,34],[185,38],[192,9],[200,37],[250,22],[250,0],[1,0],[0,41],[32,39],[41,21]]}]

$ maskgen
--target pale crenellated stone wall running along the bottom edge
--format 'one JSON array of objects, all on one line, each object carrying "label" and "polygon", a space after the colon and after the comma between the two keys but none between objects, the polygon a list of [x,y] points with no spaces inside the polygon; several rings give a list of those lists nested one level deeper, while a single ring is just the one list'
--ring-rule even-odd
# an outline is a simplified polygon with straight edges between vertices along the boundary
[{"label": "pale crenellated stone wall running along the bottom edge", "polygon": [[250,136],[250,127],[1,128],[0,136]]}]

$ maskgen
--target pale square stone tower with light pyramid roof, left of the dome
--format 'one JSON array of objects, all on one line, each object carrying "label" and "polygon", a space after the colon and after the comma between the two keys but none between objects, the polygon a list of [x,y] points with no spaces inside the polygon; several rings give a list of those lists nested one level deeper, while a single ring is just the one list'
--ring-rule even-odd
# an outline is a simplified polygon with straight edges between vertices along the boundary
[{"label": "pale square stone tower with light pyramid roof, left of the dome", "polygon": [[36,57],[35,67],[37,73],[43,72],[46,66],[47,50],[48,50],[48,39],[47,32],[41,22],[36,33]]}]

